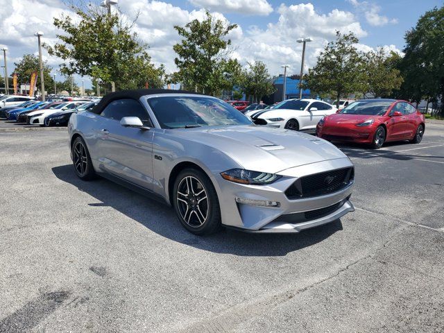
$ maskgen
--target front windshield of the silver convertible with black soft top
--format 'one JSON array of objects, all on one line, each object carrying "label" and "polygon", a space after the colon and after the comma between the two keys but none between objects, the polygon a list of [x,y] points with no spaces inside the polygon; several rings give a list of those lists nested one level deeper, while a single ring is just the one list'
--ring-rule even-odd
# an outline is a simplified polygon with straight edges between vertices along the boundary
[{"label": "front windshield of the silver convertible with black soft top", "polygon": [[206,96],[162,96],[148,99],[162,128],[250,125],[230,104]]}]

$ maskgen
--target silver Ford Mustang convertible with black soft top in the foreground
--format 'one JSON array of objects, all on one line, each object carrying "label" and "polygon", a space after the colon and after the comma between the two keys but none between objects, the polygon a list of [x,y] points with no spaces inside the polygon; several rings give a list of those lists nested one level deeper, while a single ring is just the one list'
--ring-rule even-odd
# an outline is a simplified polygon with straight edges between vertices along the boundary
[{"label": "silver Ford Mustang convertible with black soft top in the foreground", "polygon": [[132,90],[103,97],[68,124],[78,177],[96,175],[172,205],[182,225],[299,232],[339,219],[354,167],[311,135],[255,126],[211,96]]}]

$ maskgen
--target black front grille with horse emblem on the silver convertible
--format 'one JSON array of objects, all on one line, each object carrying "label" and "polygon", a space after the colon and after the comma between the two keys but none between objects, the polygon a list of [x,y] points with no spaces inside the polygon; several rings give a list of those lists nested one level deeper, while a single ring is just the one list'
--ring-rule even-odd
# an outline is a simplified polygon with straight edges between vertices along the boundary
[{"label": "black front grille with horse emblem on the silver convertible", "polygon": [[337,169],[314,175],[298,178],[293,185],[285,191],[289,199],[311,198],[325,196],[336,191],[341,191],[355,179],[353,167]]}]

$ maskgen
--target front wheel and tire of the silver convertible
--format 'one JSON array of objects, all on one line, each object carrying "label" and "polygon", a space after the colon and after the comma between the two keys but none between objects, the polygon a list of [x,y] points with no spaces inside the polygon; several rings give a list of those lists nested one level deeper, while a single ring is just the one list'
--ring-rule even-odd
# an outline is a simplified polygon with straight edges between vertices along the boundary
[{"label": "front wheel and tire of the silver convertible", "polygon": [[219,198],[210,178],[198,169],[182,170],[174,182],[173,206],[180,223],[194,234],[221,228]]}]

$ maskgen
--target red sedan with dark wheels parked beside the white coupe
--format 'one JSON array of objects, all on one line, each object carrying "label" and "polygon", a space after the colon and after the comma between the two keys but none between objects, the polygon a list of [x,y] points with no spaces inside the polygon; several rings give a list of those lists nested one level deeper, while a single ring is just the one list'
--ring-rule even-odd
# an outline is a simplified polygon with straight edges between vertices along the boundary
[{"label": "red sedan with dark wheels parked beside the white coupe", "polygon": [[407,101],[364,99],[318,122],[316,135],[328,141],[356,142],[381,148],[385,142],[409,140],[419,144],[424,114]]}]

